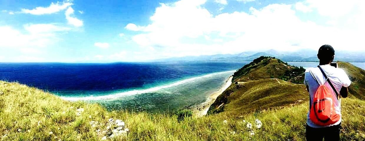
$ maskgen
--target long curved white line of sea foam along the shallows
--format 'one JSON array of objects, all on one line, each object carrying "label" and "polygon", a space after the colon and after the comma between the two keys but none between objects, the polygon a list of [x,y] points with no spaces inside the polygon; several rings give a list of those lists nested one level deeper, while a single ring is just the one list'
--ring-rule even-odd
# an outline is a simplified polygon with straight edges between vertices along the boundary
[{"label": "long curved white line of sea foam along the shallows", "polygon": [[194,82],[197,79],[214,77],[215,75],[224,74],[224,73],[234,73],[234,71],[223,71],[223,72],[219,72],[219,73],[211,73],[211,74],[207,74],[207,75],[203,75],[203,76],[199,76],[199,77],[184,79],[181,81],[171,83],[169,85],[162,85],[162,86],[152,87],[152,88],[144,89],[144,90],[130,90],[130,91],[122,92],[122,93],[100,95],[100,96],[94,95],[94,96],[87,96],[87,97],[62,97],[61,96],[60,98],[67,100],[67,101],[114,99],[114,98],[118,98],[118,97],[126,97],[126,96],[136,95],[136,94],[151,93],[151,92],[158,91],[161,89],[166,89],[169,87],[174,87],[174,86],[182,85],[182,84],[189,83],[189,82]]}]

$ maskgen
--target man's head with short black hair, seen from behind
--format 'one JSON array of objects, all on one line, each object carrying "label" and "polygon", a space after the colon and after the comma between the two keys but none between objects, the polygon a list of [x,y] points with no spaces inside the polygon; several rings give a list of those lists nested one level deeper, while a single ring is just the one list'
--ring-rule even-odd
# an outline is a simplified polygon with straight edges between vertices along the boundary
[{"label": "man's head with short black hair, seen from behind", "polygon": [[335,50],[333,49],[332,46],[328,44],[321,46],[317,54],[319,62],[323,63],[331,63],[335,57],[334,55],[335,55]]}]

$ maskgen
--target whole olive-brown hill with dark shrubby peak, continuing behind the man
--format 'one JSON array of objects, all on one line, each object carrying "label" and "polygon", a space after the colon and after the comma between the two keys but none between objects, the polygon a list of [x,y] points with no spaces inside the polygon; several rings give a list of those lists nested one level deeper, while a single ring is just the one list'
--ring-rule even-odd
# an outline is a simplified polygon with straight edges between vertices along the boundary
[{"label": "whole olive-brown hill with dark shrubby peak, continuing behind the man", "polygon": [[[353,81],[349,87],[350,97],[364,99],[365,71],[345,62],[339,62],[339,66]],[[303,68],[289,66],[280,59],[261,56],[234,73],[234,83],[219,95],[208,114],[222,111],[242,114],[308,102],[306,87],[301,85],[303,72]]]}]

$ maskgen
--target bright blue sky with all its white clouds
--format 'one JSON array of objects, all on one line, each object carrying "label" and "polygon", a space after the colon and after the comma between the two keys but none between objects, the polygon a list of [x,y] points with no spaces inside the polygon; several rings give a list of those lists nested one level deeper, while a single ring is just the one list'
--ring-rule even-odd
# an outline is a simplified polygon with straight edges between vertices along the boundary
[{"label": "bright blue sky with all its white clouds", "polygon": [[0,62],[140,62],[245,51],[365,53],[364,0],[0,0]]}]

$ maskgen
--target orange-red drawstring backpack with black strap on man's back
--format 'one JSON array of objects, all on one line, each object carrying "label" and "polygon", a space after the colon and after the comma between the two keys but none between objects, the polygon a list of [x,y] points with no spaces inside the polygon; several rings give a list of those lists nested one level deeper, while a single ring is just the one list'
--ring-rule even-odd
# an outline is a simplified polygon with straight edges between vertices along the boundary
[{"label": "orange-red drawstring backpack with black strap on man's back", "polygon": [[[309,118],[314,124],[320,126],[335,124],[341,118],[341,115],[339,113],[336,113],[334,103],[338,102],[336,101],[338,100],[338,93],[335,87],[332,85],[330,79],[328,79],[327,75],[324,74],[322,68],[319,66],[318,68],[320,69],[320,71],[324,75],[324,78],[326,78],[326,81],[333,90],[331,90],[331,88],[328,88],[328,85],[324,85],[326,82],[321,85],[319,81],[314,77],[314,75],[312,75],[312,77],[318,82],[319,87],[314,94],[313,103],[310,103]],[[334,99],[334,94],[336,95],[337,99]]]}]

